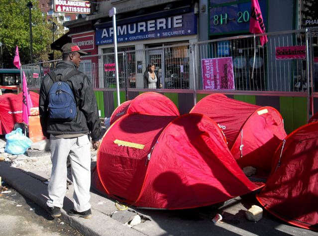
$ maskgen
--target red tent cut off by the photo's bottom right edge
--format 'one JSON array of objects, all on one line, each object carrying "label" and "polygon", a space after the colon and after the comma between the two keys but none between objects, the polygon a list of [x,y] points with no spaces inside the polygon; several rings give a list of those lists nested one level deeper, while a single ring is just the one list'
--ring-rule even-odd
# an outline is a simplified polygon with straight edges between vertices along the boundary
[{"label": "red tent cut off by the photo's bottom right edge", "polygon": [[296,129],[281,143],[257,199],[276,217],[318,231],[318,122]]}]

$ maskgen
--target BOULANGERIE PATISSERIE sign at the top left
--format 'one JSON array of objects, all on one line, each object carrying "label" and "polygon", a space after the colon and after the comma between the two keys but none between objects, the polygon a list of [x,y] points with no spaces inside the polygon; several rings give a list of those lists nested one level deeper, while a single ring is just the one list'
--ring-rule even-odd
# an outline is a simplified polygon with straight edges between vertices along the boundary
[{"label": "BOULANGERIE PATISSERIE sign at the top left", "polygon": [[54,0],[54,11],[76,14],[91,14],[91,2],[78,0]]}]

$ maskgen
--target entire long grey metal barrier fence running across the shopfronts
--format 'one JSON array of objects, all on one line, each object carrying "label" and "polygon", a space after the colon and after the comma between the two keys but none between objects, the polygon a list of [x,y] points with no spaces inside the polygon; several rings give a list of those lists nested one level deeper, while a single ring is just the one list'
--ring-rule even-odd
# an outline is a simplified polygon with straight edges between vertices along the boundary
[{"label": "entire long grey metal barrier fence running across the shopfronts", "polygon": [[[143,89],[148,64],[155,65],[162,89],[203,89],[202,59],[231,57],[237,91],[305,92],[318,89],[318,62],[314,64],[318,37],[309,30],[267,33],[261,46],[259,35],[243,35],[197,43],[118,52],[119,88]],[[306,46],[306,59],[277,60],[278,47]],[[96,89],[116,87],[114,53],[81,57],[79,70],[88,75]],[[23,65],[30,88],[57,61]],[[312,82],[314,81],[314,82]]]}]

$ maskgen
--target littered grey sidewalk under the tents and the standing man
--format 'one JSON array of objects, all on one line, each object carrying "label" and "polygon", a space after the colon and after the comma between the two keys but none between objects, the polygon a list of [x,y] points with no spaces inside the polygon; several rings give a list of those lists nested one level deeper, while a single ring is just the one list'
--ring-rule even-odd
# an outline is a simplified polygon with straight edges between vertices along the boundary
[{"label": "littered grey sidewalk under the tents and the standing man", "polygon": [[[92,160],[92,165],[95,165],[96,152],[92,152]],[[0,162],[0,176],[22,195],[46,208],[48,193],[45,182],[50,177],[50,168],[49,155],[9,156],[9,160]],[[66,214],[66,211],[73,207],[72,194],[73,185],[69,184],[61,219],[86,236],[318,235],[312,231],[290,226],[266,211],[263,212],[263,219],[259,222],[248,221],[245,218],[245,211],[252,205],[259,206],[255,200],[255,193],[230,200],[218,209],[215,206],[209,206],[165,211],[130,207],[127,210],[118,211],[115,201],[91,189],[93,213],[91,219],[69,217]],[[223,220],[213,224],[212,218],[216,214],[221,214]],[[141,217],[141,223],[129,228],[125,223],[136,215]]]}]

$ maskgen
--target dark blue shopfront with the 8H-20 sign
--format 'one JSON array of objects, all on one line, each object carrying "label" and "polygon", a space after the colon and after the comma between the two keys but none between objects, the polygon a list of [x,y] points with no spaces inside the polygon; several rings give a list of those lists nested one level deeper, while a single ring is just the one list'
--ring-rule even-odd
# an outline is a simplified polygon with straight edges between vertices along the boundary
[{"label": "dark blue shopfront with the 8H-20 sign", "polygon": [[[263,23],[268,26],[268,4],[267,0],[259,0]],[[216,39],[220,37],[231,37],[249,33],[249,22],[251,18],[250,1],[220,1],[210,0],[209,11],[209,37]],[[268,27],[266,28],[267,32]],[[258,41],[255,43],[259,44]],[[266,50],[256,47],[254,52],[254,41],[250,39],[237,39],[219,41],[215,45],[212,57],[232,57],[235,87],[237,90],[267,90]],[[257,54],[254,60],[254,53]],[[256,72],[254,74],[254,72]],[[253,73],[253,79],[251,79]],[[265,78],[265,79],[264,79]]]}]

